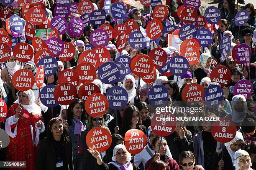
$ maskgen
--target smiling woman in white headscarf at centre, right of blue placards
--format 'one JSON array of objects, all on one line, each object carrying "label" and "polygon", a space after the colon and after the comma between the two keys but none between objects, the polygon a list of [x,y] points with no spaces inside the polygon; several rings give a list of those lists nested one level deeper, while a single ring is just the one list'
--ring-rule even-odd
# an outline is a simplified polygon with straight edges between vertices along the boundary
[{"label": "smiling woman in white headscarf at centre, right of blue placards", "polygon": [[130,105],[133,105],[134,97],[136,96],[136,85],[134,77],[132,75],[126,75],[123,79],[122,87],[128,93],[128,102],[130,101]]}]

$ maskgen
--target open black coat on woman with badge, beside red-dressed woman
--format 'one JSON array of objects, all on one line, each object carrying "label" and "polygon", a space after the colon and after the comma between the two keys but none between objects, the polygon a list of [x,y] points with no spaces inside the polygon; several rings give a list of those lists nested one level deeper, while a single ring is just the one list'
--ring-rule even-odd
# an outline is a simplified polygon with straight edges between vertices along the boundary
[{"label": "open black coat on woman with badge, beside red-dressed woman", "polygon": [[[71,141],[64,142],[65,155],[69,170],[74,170],[72,158]],[[56,165],[56,154],[54,150],[53,139],[44,139],[39,143],[38,153],[36,155],[36,170],[54,170]]]}]

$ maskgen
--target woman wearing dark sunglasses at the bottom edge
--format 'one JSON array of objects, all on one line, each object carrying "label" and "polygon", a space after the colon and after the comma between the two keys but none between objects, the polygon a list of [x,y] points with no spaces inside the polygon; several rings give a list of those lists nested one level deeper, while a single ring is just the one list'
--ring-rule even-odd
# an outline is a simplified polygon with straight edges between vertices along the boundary
[{"label": "woman wearing dark sunglasses at the bottom edge", "polygon": [[179,155],[179,165],[181,170],[205,170],[201,165],[195,165],[195,156],[190,150]]}]

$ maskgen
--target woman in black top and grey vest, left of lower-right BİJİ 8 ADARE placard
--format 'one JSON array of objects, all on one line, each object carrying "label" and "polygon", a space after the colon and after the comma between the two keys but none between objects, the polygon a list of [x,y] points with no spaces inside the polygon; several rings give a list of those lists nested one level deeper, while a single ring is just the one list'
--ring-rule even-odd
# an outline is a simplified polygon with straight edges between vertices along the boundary
[{"label": "woman in black top and grey vest, left of lower-right B\u0130J\u0130 8 ADARE placard", "polygon": [[[216,117],[213,113],[208,113],[205,117]],[[204,121],[202,123],[203,130],[195,135],[194,140],[194,154],[195,165],[202,165],[206,170],[210,170],[212,166],[212,155],[220,150],[220,143],[212,138],[211,121]]]}]

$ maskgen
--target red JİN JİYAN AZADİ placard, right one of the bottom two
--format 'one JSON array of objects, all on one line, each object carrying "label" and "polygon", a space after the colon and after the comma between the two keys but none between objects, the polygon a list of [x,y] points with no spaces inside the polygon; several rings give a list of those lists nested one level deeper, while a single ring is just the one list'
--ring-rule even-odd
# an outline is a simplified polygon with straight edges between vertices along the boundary
[{"label": "red J\u0130N J\u0130YAN AZAD\u0130 placard, right one of the bottom two", "polygon": [[147,145],[146,134],[138,129],[131,129],[125,133],[125,148],[133,155],[140,153]]}]

